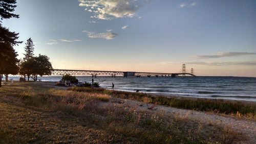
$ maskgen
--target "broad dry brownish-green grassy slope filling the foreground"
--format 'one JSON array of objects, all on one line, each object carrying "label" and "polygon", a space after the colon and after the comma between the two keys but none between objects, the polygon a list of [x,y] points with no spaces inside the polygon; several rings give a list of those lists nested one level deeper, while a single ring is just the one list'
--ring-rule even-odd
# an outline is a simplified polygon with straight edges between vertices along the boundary
[{"label": "broad dry brownish-green grassy slope filling the foreground", "polygon": [[[180,115],[139,111],[137,106],[125,106],[120,99],[110,97],[129,99],[129,93],[72,90],[38,83],[2,87],[0,143],[232,143],[243,139],[228,127]],[[137,96],[141,100],[151,98],[142,93]]]}]

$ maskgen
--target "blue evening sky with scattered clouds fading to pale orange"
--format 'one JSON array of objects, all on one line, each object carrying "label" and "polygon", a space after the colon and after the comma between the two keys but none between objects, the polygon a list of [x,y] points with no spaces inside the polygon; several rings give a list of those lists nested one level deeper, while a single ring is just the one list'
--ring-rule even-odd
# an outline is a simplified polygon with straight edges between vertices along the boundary
[{"label": "blue evening sky with scattered clouds fading to pale orange", "polygon": [[55,69],[256,77],[256,1],[17,0],[19,33]]}]

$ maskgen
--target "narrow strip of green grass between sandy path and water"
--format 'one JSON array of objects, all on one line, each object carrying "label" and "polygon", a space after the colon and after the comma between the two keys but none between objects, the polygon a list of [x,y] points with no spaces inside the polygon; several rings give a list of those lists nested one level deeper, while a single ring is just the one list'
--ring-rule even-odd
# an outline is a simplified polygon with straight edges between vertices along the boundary
[{"label": "narrow strip of green grass between sandy path and water", "polygon": [[[124,92],[117,90],[106,90],[103,88],[90,88],[90,87],[73,87],[69,90],[109,94],[114,98],[136,100],[140,102],[147,102],[158,105],[166,105],[170,107],[191,109],[199,111],[209,111],[215,113],[224,113],[236,116],[247,117],[256,119],[256,105],[245,104],[242,102],[212,100],[212,99],[189,99],[177,97],[155,96],[146,93]],[[145,99],[147,98],[147,99]]]}]

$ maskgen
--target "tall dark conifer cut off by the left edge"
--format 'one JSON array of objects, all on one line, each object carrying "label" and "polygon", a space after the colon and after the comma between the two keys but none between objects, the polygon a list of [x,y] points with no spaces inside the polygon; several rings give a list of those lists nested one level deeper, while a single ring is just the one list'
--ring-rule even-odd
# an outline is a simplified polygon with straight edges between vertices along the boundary
[{"label": "tall dark conifer cut off by the left edge", "polygon": [[[12,12],[16,8],[16,0],[0,0],[0,75],[17,74],[17,53],[13,49],[14,45],[22,43],[17,41],[18,33],[10,32],[9,29],[2,26],[2,20],[5,18],[15,17],[18,15]],[[2,79],[0,79],[0,87]]]}]

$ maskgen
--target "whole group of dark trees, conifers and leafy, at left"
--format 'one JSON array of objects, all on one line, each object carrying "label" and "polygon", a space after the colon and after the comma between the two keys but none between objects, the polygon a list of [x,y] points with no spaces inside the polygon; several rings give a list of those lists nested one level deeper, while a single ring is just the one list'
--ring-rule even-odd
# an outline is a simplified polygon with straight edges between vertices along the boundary
[{"label": "whole group of dark trees, conifers and leafy, at left", "polygon": [[2,86],[2,77],[8,75],[23,75],[31,77],[34,81],[37,76],[51,75],[52,65],[46,55],[34,57],[34,44],[31,38],[27,40],[25,47],[25,58],[17,59],[17,52],[13,46],[22,43],[18,41],[18,33],[10,32],[8,28],[2,26],[3,19],[19,18],[19,15],[14,14],[16,8],[16,0],[0,0],[0,87]]}]

